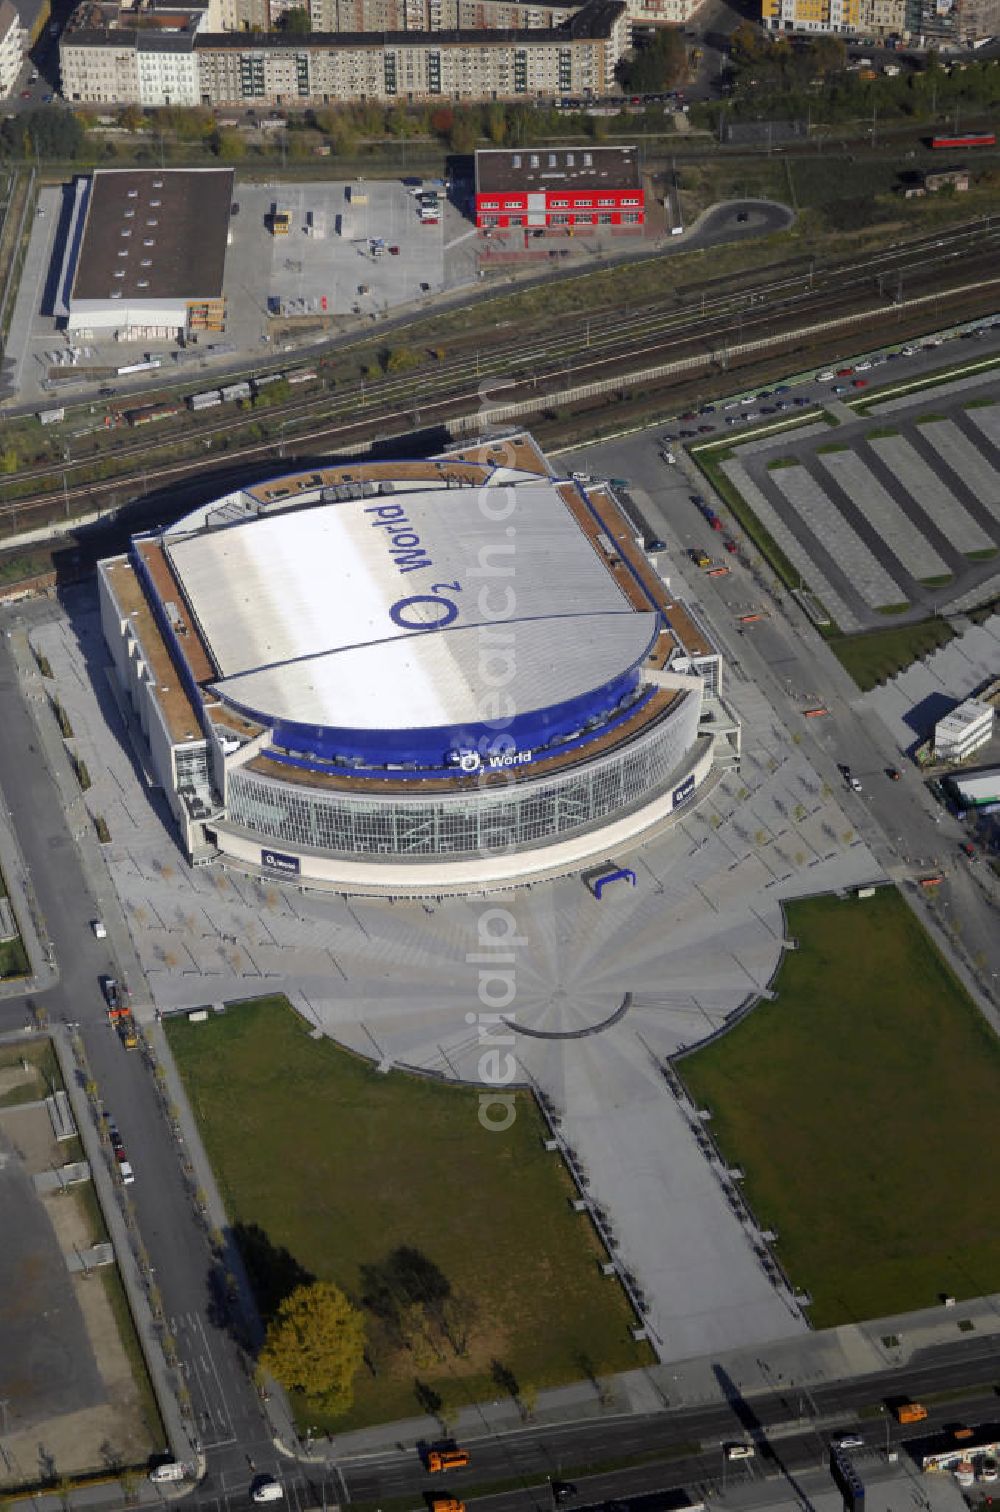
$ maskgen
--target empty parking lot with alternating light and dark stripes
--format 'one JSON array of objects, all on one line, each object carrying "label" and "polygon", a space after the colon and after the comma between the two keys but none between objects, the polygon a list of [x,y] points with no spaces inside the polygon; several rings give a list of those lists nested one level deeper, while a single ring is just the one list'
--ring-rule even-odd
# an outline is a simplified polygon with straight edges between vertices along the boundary
[{"label": "empty parking lot with alternating light and dark stripes", "polygon": [[778,431],[720,463],[841,631],[988,597],[1000,552],[1000,380]]}]

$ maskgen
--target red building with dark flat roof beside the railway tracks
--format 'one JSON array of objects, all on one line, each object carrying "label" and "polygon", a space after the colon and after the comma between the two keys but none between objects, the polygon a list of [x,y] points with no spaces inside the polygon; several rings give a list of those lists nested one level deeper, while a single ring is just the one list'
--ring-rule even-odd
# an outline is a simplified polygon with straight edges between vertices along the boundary
[{"label": "red building with dark flat roof beside the railway tracks", "polygon": [[638,231],[646,224],[637,147],[501,147],[475,154],[478,230]]}]

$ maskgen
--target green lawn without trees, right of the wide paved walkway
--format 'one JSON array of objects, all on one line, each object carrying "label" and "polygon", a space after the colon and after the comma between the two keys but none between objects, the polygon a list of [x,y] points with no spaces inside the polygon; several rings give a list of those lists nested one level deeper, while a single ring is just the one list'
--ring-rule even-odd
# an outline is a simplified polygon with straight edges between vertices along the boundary
[{"label": "green lawn without trees, right of the wide paved walkway", "polygon": [[997,1037],[893,889],[787,921],[776,1001],[679,1069],[812,1323],[994,1291]]}]

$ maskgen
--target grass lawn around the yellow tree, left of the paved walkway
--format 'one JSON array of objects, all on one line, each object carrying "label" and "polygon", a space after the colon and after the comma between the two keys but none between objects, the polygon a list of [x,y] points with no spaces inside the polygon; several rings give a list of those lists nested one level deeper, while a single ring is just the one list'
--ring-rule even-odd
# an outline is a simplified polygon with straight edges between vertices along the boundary
[{"label": "grass lawn around the yellow tree, left of the paved walkway", "polygon": [[[369,1356],[337,1427],[410,1417],[415,1382],[446,1406],[496,1397],[495,1361],[520,1388],[651,1359],[632,1343],[617,1282],[601,1275],[589,1220],[570,1208],[534,1101],[487,1132],[478,1092],[392,1072],[313,1040],[283,998],[231,1005],[207,1024],[172,1019],[171,1049],[201,1123],[259,1299],[272,1306],[306,1272],[356,1300],[401,1246],[451,1285],[467,1353],[440,1337],[399,1347],[369,1312]],[[433,1331],[431,1331],[433,1332]],[[333,1426],[315,1405],[303,1420]]]}]

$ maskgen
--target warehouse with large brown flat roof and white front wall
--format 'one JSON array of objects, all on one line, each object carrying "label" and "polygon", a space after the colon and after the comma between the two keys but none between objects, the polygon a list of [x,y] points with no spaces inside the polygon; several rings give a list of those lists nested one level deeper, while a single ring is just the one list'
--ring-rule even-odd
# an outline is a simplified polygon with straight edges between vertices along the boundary
[{"label": "warehouse with large brown flat roof and white front wall", "polygon": [[221,331],[231,168],[115,168],[77,178],[56,313],[70,331]]}]

